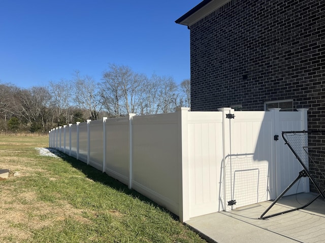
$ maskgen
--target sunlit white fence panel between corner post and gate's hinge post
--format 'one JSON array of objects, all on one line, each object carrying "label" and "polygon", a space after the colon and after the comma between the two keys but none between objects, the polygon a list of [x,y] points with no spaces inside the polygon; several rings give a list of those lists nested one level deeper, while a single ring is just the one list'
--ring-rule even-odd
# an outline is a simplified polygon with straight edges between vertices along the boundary
[{"label": "sunlit white fence panel between corner post and gate's hinge post", "polygon": [[222,112],[188,114],[189,217],[222,210]]}]

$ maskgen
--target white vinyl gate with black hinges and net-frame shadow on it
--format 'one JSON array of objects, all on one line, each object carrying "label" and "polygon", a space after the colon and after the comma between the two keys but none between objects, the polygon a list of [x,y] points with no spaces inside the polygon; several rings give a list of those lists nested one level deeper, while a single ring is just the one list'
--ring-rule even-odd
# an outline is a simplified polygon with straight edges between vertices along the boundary
[{"label": "white vinyl gate with black hinges and net-frame shadow on it", "polygon": [[[241,111],[230,118],[229,154],[225,159],[227,209],[270,199],[273,166],[273,112]],[[230,185],[229,185],[230,183]],[[236,203],[236,204],[235,204]],[[229,208],[230,207],[230,208]]]}]

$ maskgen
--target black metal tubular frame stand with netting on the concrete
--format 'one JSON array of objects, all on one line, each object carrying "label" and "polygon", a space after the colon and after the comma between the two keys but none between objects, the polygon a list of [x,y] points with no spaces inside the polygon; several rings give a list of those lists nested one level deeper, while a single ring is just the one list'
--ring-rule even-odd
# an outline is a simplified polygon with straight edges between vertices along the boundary
[{"label": "black metal tubular frame stand with netting on the concrete", "polygon": [[[323,134],[323,131],[312,131],[309,133],[321,133]],[[270,205],[270,207],[264,211],[264,213],[258,218],[258,219],[268,219],[274,216],[278,216],[281,214],[286,214],[289,212],[293,212],[293,211],[297,211],[300,209],[304,209],[307,206],[311,205],[320,195],[322,196],[322,198],[325,199],[325,194],[324,192],[320,189],[320,187],[318,186],[318,184],[316,183],[314,177],[310,174],[310,172],[308,171],[308,168],[305,166],[305,164],[303,163],[303,161],[301,160],[301,158],[298,156],[298,154],[296,153],[296,151],[294,150],[294,148],[288,143],[288,141],[284,138],[284,134],[286,133],[308,133],[307,131],[298,131],[298,132],[282,132],[282,138],[285,141],[285,144],[288,145],[288,147],[290,148],[290,150],[295,154],[296,158],[298,159],[299,163],[302,165],[302,167],[304,168],[304,170],[302,170],[301,172],[299,172],[298,177],[296,178],[296,180],[294,180],[287,188],[285,188],[285,190],[273,201],[273,203]],[[297,182],[300,180],[300,178],[302,177],[309,177],[310,181],[315,185],[317,191],[319,192],[318,195],[316,195],[311,201],[309,201],[309,203],[307,203],[306,205],[299,207],[299,208],[295,208],[295,209],[290,209],[287,211],[283,211],[280,213],[276,213],[276,214],[272,214],[269,216],[264,216],[276,203],[278,200],[280,200],[280,198]]]}]

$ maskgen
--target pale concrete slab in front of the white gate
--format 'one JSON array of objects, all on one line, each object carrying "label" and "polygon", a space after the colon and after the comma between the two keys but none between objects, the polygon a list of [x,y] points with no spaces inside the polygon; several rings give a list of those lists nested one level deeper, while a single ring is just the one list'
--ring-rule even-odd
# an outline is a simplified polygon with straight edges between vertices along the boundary
[{"label": "pale concrete slab in front of the white gate", "polygon": [[[283,197],[270,214],[299,207],[313,196],[312,193],[300,193]],[[322,198],[304,210],[259,220],[271,203],[264,201],[229,212],[203,215],[185,224],[209,242],[325,242],[325,201]]]}]

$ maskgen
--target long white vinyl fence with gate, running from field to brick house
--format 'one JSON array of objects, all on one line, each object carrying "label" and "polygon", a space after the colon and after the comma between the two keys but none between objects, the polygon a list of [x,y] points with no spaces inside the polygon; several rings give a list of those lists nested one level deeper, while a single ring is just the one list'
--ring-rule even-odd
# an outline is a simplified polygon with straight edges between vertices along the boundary
[{"label": "long white vinyl fence with gate, running from field to brick house", "polygon": [[[302,170],[281,132],[301,130],[307,130],[307,109],[179,108],[58,127],[49,132],[49,146],[137,190],[183,222],[275,199]],[[298,186],[288,194],[308,192],[308,179]]]}]

